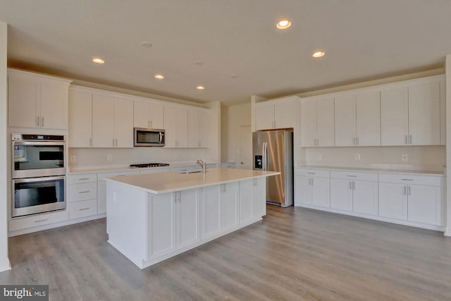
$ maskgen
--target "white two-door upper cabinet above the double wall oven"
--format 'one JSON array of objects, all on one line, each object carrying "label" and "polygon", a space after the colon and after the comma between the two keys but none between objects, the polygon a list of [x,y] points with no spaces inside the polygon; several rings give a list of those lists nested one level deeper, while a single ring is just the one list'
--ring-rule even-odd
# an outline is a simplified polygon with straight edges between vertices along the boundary
[{"label": "white two-door upper cabinet above the double wall oven", "polygon": [[70,82],[8,69],[9,126],[66,130]]}]

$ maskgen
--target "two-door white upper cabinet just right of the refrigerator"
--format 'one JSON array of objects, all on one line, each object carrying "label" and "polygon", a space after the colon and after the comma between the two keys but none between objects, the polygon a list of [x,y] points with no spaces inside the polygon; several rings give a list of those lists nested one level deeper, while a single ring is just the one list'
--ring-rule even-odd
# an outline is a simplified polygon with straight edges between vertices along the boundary
[{"label": "two-door white upper cabinet just right of the refrigerator", "polygon": [[302,99],[301,147],[333,147],[333,98]]}]

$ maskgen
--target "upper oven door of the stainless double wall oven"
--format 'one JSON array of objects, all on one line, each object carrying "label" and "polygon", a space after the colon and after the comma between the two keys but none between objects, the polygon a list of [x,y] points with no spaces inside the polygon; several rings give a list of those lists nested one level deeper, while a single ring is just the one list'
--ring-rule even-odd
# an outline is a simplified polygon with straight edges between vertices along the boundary
[{"label": "upper oven door of the stainless double wall oven", "polygon": [[65,142],[13,141],[13,178],[66,174]]}]

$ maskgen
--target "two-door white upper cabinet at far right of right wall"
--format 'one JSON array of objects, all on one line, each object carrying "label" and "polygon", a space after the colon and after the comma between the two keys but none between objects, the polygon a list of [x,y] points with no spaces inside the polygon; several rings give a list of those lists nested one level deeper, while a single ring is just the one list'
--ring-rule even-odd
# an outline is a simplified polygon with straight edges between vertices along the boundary
[{"label": "two-door white upper cabinet at far right of right wall", "polygon": [[[442,87],[440,87],[442,86]],[[440,145],[440,80],[381,91],[381,145]],[[442,132],[443,133],[443,132]]]}]

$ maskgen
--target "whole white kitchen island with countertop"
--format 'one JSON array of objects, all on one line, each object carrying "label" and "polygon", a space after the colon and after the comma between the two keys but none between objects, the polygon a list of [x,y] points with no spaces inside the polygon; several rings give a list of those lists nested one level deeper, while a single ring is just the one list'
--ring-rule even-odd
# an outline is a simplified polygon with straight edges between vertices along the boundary
[{"label": "whole white kitchen island with countertop", "polygon": [[278,174],[211,168],[106,178],[108,241],[144,269],[260,221],[266,177]]}]

